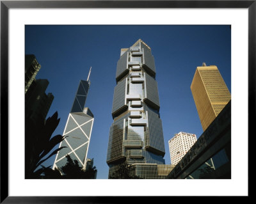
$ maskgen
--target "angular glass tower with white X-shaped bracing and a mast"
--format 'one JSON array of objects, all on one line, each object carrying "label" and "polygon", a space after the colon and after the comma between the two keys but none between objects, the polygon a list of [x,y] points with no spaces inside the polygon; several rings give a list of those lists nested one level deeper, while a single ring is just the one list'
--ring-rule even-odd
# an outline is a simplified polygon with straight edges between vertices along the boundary
[{"label": "angular glass tower with white X-shaped bracing and a mast", "polygon": [[79,82],[76,97],[68,114],[68,120],[63,132],[63,136],[67,137],[60,143],[60,146],[67,146],[67,148],[63,148],[58,152],[52,169],[58,168],[61,171],[61,167],[67,163],[65,157],[67,154],[70,155],[71,159],[76,159],[81,168],[86,168],[88,147],[94,121],[90,109],[84,107],[90,87],[90,72],[87,81],[81,80]]}]

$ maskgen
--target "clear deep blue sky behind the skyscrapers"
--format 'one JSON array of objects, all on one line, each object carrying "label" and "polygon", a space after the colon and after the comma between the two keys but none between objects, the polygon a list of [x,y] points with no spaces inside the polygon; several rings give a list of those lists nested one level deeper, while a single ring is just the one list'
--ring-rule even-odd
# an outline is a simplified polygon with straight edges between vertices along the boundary
[{"label": "clear deep blue sky behind the skyscrapers", "polygon": [[[180,131],[200,137],[190,85],[196,67],[216,65],[231,92],[231,30],[229,26],[26,26],[25,53],[35,54],[42,68],[36,79],[48,79],[46,93],[54,95],[47,117],[58,111],[63,134],[79,81],[92,82],[85,107],[95,116],[88,158],[94,158],[97,178],[108,178],[106,155],[116,63],[120,49],[139,38],[152,49],[156,63],[165,163],[170,164],[168,140]],[[57,148],[58,146],[56,146]],[[51,157],[45,166],[53,164]]]}]

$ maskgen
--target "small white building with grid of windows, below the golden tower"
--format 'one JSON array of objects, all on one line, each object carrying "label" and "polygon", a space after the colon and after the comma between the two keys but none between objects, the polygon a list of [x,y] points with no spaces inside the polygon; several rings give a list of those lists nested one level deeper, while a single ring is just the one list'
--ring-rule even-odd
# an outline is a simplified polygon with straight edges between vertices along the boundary
[{"label": "small white building with grid of windows, below the golden tower", "polygon": [[178,164],[180,159],[186,155],[188,150],[195,144],[195,142],[195,134],[187,132],[179,132],[178,134],[175,134],[175,136],[168,141],[171,163],[173,165]]}]

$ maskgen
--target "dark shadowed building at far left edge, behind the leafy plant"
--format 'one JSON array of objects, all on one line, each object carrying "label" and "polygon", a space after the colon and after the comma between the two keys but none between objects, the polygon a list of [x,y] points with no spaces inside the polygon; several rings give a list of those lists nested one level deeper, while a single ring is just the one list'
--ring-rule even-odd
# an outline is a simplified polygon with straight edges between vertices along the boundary
[{"label": "dark shadowed building at far left edge, behind the leafy plant", "polygon": [[40,67],[35,55],[25,56],[25,178],[33,178],[31,174],[36,150],[40,151],[41,148],[38,137],[44,129],[45,118],[54,99],[52,93],[45,93],[49,81],[35,79]]}]

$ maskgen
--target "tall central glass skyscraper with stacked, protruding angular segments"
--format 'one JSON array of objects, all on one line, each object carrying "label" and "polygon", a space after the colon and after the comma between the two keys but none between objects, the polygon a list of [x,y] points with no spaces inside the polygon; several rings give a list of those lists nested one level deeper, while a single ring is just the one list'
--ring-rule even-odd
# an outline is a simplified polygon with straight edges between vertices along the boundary
[{"label": "tall central glass skyscraper with stacked, protruding angular segments", "polygon": [[[164,178],[164,137],[154,56],[139,39],[121,49],[116,67],[107,163],[109,178],[119,164],[133,166],[141,178]],[[161,166],[162,165],[162,166]],[[167,169],[167,170],[166,170]],[[161,172],[161,173],[160,173]]]}]

